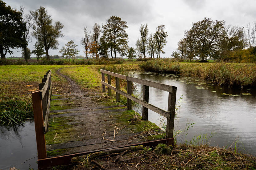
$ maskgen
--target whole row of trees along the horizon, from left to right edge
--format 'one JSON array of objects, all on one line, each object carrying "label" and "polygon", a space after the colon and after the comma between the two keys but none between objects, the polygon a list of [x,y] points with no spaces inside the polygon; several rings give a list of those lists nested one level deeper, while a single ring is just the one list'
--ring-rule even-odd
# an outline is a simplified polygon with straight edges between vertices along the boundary
[{"label": "whole row of trees along the horizon, from left to right edge", "polygon": [[[47,10],[40,6],[30,14],[24,14],[24,7],[14,10],[0,0],[0,54],[5,59],[6,53],[12,54],[11,49],[21,48],[22,56],[26,60],[33,53],[37,59],[46,55],[50,59],[48,50],[58,49],[57,38],[63,37],[61,29],[64,27],[60,21],[53,23]],[[252,55],[256,60],[256,22],[248,23],[246,29],[238,26],[224,26],[225,21],[204,18],[202,21],[192,23],[190,30],[185,31],[184,38],[178,42],[177,51],[173,51],[173,58],[206,60],[229,59],[234,55]],[[140,37],[134,47],[128,46],[127,22],[120,17],[111,16],[105,24],[95,23],[92,30],[84,27],[81,45],[84,47],[86,59],[88,55],[93,58],[116,58],[117,53],[129,59],[136,57],[160,58],[165,53],[163,48],[167,43],[165,25],[156,28],[155,33],[149,33],[148,25],[141,24]],[[31,32],[32,29],[32,32]],[[30,34],[31,32],[31,34]],[[31,42],[31,35],[36,38],[34,49],[30,51],[27,44]],[[75,58],[80,51],[77,45],[70,40],[60,49],[62,57]],[[242,51],[242,52],[241,52]]]}]

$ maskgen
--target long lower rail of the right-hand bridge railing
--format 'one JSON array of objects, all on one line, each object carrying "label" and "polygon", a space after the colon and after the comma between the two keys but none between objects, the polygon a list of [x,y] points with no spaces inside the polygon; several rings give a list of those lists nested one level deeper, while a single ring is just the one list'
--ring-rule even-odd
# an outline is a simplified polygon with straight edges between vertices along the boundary
[{"label": "long lower rail of the right-hand bridge railing", "polygon": [[[127,94],[126,92],[124,92],[124,91],[122,91],[122,90],[116,89],[114,86],[111,86],[111,85],[109,85],[109,84],[106,83],[106,82],[102,82],[102,81],[101,81],[101,83],[104,83],[105,86],[111,88],[111,89],[114,90],[114,91],[117,91],[118,93],[120,93],[121,95],[127,97],[128,99],[131,99],[131,100],[133,100],[134,102],[137,102],[137,103],[141,104],[142,106],[145,106],[145,107],[147,107],[148,109],[150,109],[150,110],[152,110],[152,111],[155,111],[155,112],[158,113],[159,115],[162,115],[162,116],[164,116],[164,117],[166,117],[166,118],[170,117],[170,114],[171,114],[171,113],[168,112],[168,111],[164,111],[164,110],[162,110],[162,109],[160,109],[160,108],[158,108],[158,107],[156,107],[156,106],[154,106],[154,105],[152,105],[152,104],[149,104],[149,103],[147,103],[147,102],[145,102],[145,101],[143,101],[143,100],[137,99],[136,97],[134,97],[134,96],[132,96],[132,95],[129,95],[129,94]],[[127,109],[128,109],[128,108],[127,108]]]}]

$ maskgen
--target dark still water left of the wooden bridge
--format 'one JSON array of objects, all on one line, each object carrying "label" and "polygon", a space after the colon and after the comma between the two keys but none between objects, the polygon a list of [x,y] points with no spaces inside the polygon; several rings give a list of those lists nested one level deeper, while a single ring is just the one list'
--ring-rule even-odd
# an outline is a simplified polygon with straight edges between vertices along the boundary
[{"label": "dark still water left of the wooden bridge", "polygon": [[0,169],[9,170],[12,167],[21,170],[37,169],[36,161],[34,122],[26,121],[24,127],[10,127],[10,129],[0,126]]}]

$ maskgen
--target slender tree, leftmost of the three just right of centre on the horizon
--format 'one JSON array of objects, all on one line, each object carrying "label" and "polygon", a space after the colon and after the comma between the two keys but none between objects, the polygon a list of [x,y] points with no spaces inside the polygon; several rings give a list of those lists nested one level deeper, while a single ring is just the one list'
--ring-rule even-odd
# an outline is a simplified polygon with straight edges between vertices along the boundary
[{"label": "slender tree, leftmost of the three just right of centre on the horizon", "polygon": [[148,28],[147,24],[141,24],[140,26],[140,38],[136,42],[136,49],[138,52],[143,54],[143,58],[146,58],[146,45],[147,45],[147,34],[148,34]]}]

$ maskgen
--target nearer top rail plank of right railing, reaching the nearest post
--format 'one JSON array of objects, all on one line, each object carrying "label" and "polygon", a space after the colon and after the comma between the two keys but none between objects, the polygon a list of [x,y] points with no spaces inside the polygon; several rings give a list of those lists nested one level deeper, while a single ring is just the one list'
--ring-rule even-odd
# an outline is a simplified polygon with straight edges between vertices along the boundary
[{"label": "nearer top rail plank of right railing, reaching the nearest post", "polygon": [[150,86],[150,87],[154,87],[163,91],[168,91],[168,92],[172,92],[172,86],[166,85],[166,84],[162,84],[162,83],[157,83],[157,82],[153,82],[153,81],[149,81],[149,80],[144,80],[144,79],[138,79],[138,78],[134,78],[134,77],[126,77],[127,81],[132,81],[135,83],[139,83],[142,85],[146,85],[146,86]]}]

